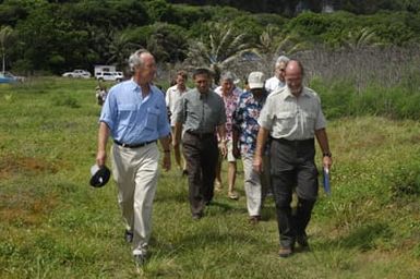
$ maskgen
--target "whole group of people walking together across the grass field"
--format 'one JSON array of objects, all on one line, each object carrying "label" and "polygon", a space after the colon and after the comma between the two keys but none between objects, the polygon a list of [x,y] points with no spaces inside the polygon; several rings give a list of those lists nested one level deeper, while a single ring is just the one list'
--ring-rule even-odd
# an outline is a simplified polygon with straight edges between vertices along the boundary
[{"label": "whole group of people walking together across the grass field", "polygon": [[[280,57],[274,77],[265,81],[262,72],[252,72],[243,93],[235,86],[230,73],[225,73],[220,86],[213,90],[212,72],[205,68],[194,70],[195,86],[190,89],[185,85],[187,73],[180,71],[166,97],[153,85],[156,62],[151,52],[135,51],[129,65],[132,78],[110,88],[103,106],[96,160],[99,167],[105,166],[111,136],[110,157],[127,226],[124,238],[132,243],[135,262],[142,265],[147,257],[158,177],[158,140],[164,169],[170,169],[172,147],[179,170],[188,175],[192,219],[204,217],[215,184],[216,191],[223,190],[219,173],[224,158],[228,161],[228,197],[238,198],[236,161],[241,158],[250,221],[257,223],[261,219],[261,208],[271,190],[276,205],[279,256],[290,256],[296,242],[308,248],[305,228],[319,186],[314,138],[323,153],[324,168],[329,169],[332,155],[321,100],[302,85],[302,64]],[[293,191],[298,205],[292,215]]]}]

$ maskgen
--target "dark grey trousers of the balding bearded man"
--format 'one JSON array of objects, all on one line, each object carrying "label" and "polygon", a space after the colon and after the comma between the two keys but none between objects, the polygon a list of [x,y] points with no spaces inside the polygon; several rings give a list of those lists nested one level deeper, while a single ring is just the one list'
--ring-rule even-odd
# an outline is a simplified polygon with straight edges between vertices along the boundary
[{"label": "dark grey trousers of the balding bearded man", "polygon": [[[319,189],[314,156],[313,138],[272,142],[272,183],[281,246],[292,247],[297,235],[305,235]],[[293,187],[298,195],[296,216],[290,208]]]}]

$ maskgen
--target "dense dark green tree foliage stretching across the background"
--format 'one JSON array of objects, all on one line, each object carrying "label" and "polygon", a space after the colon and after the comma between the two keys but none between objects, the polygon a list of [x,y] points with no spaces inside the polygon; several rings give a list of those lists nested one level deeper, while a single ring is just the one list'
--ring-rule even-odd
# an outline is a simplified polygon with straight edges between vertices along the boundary
[{"label": "dense dark green tree foliage stretching across the background", "polygon": [[[148,48],[159,62],[183,62],[194,52],[191,48],[195,43],[211,43],[215,23],[229,26],[232,38],[241,37],[253,48],[252,52],[266,61],[280,52],[290,54],[288,50],[293,48],[279,48],[285,38],[293,38],[293,44],[305,49],[320,45],[331,49],[364,45],[405,47],[420,41],[416,1],[333,1],[332,7],[349,11],[334,13],[315,13],[322,11],[316,2],[328,1],[300,1],[299,11],[308,8],[314,12],[295,17],[245,10],[276,12],[271,8],[277,7],[295,14],[299,1],[276,1],[275,5],[274,1],[257,1],[257,7],[255,1],[193,1],[199,5],[171,2],[181,1],[0,1],[0,51],[5,57],[5,68],[26,74],[59,74],[74,68],[92,71],[94,64],[105,63],[122,68],[128,53],[140,46]],[[371,15],[351,13],[379,9],[387,11]],[[268,35],[267,29],[272,31]],[[266,44],[274,44],[269,48],[273,53],[267,53]]]}]

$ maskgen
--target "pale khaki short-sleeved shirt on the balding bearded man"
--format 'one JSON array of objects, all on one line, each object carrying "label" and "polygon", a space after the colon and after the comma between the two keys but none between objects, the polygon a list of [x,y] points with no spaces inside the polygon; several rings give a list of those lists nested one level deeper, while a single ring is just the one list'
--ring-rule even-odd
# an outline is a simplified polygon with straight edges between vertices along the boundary
[{"label": "pale khaki short-sleeved shirt on the balding bearded man", "polygon": [[297,98],[285,86],[268,95],[259,124],[269,130],[274,138],[295,141],[313,138],[314,132],[325,128],[326,121],[315,92],[303,87]]}]

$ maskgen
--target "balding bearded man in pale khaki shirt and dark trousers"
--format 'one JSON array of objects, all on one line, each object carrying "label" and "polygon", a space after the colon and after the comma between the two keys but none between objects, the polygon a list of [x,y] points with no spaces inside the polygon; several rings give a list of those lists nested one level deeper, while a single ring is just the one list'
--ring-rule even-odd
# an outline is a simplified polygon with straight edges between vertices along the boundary
[{"label": "balding bearded man in pale khaki shirt and dark trousers", "polygon": [[[319,187],[314,137],[323,151],[323,167],[329,169],[332,165],[321,100],[315,92],[302,86],[302,64],[290,60],[285,77],[287,86],[272,93],[261,111],[253,161],[255,171],[261,172],[263,147],[271,134],[271,173],[280,236],[280,257],[292,254],[295,241],[302,248],[309,248],[305,228],[311,219]],[[298,207],[296,216],[292,216],[290,202],[295,186]]]}]

